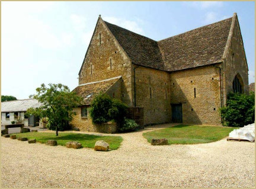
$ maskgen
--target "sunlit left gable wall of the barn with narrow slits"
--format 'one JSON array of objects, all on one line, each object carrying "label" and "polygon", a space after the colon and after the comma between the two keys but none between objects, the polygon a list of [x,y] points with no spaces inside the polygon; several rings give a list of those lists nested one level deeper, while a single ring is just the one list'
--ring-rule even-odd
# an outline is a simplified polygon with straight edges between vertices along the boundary
[{"label": "sunlit left gable wall of the barn with narrow slits", "polygon": [[[121,101],[132,105],[131,62],[107,25],[99,18],[79,72],[79,85],[122,76]],[[113,95],[113,94],[111,94]]]}]

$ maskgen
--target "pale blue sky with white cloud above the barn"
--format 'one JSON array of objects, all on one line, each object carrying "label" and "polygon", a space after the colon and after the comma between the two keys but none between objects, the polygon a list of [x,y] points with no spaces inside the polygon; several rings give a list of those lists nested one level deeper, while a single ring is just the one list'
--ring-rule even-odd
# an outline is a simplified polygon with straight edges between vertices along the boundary
[{"label": "pale blue sky with white cloud above the barn", "polygon": [[238,14],[255,78],[255,3],[211,2],[1,2],[1,94],[18,99],[42,83],[72,90],[98,15],[153,40],[162,40]]}]

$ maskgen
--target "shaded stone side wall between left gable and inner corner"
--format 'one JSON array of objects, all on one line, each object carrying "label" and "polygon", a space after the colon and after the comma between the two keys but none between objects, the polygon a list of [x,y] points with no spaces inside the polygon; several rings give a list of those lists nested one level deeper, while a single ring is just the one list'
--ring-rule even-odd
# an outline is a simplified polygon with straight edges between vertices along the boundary
[{"label": "shaded stone side wall between left gable and inner corner", "polygon": [[[171,122],[169,73],[134,66],[136,107],[144,108],[144,124]],[[132,77],[134,77],[134,72]],[[132,86],[134,92],[133,79]],[[133,101],[134,98],[133,93]]]}]

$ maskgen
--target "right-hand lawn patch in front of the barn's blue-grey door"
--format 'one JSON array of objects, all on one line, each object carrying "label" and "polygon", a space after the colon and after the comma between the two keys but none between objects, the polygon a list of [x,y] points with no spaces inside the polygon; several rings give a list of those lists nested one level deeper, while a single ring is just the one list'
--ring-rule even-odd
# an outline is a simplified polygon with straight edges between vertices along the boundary
[{"label": "right-hand lawn patch in front of the barn's blue-grey door", "polygon": [[151,139],[167,139],[172,144],[198,144],[209,143],[223,139],[236,127],[193,126],[180,124],[174,127],[143,133],[143,136],[151,142]]}]

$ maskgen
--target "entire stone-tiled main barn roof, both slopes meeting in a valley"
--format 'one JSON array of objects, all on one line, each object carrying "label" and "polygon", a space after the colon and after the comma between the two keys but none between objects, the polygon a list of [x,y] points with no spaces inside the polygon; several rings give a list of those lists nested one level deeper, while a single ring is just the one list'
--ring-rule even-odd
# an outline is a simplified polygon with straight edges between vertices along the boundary
[{"label": "entire stone-tiled main barn roof, both slopes meeting in a valley", "polygon": [[220,62],[232,18],[161,41],[104,22],[133,63],[163,71],[178,71]]}]

